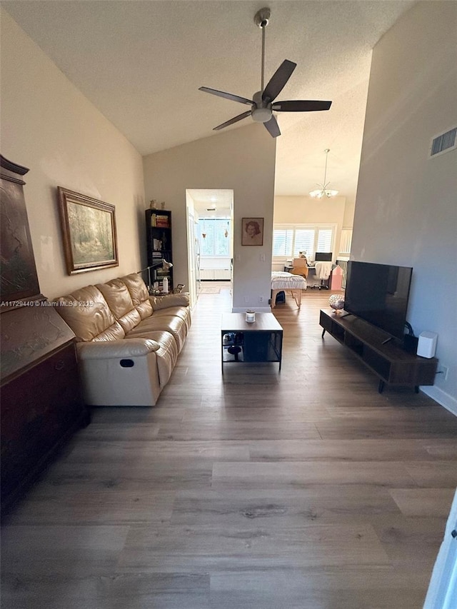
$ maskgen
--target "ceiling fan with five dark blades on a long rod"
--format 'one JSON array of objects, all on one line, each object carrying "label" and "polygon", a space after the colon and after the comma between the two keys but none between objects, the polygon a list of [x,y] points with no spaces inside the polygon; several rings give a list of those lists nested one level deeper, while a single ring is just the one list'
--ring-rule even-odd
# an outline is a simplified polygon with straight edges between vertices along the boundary
[{"label": "ceiling fan with five dark blades on a long rod", "polygon": [[[296,65],[293,61],[285,59],[281,66],[278,67],[276,72],[271,76],[266,87],[263,86],[263,77],[265,71],[265,28],[270,20],[271,11],[270,9],[260,9],[254,16],[254,23],[262,30],[262,66],[261,66],[261,91],[253,94],[253,99],[247,99],[225,91],[217,91],[217,89],[209,89],[207,86],[201,86],[199,91],[205,93],[211,93],[211,95],[217,95],[219,97],[225,97],[232,101],[238,101],[240,104],[246,104],[251,106],[250,110],[234,116],[233,119],[214,127],[213,131],[219,131],[224,129],[233,123],[237,123],[242,119],[246,119],[247,116],[252,116],[253,121],[256,123],[263,123],[268,130],[269,134],[276,138],[281,135],[279,131],[278,121],[273,115],[273,111],[278,112],[315,112],[318,110],[328,110],[331,106],[331,101],[313,101],[313,100],[294,100],[294,101],[274,101],[276,97],[281,93],[288,79],[290,79],[292,72],[296,69]],[[274,102],[274,103],[273,103]]]}]

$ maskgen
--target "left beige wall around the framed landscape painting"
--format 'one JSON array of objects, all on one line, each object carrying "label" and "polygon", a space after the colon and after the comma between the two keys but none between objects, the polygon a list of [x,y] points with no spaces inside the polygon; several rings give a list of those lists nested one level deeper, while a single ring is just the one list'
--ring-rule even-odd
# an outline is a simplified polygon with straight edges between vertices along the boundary
[{"label": "left beige wall around the framed landscape painting", "polygon": [[[141,156],[1,11],[1,153],[30,169],[27,213],[41,292],[49,298],[139,271],[144,243]],[[116,206],[119,266],[66,274],[56,187]]]}]

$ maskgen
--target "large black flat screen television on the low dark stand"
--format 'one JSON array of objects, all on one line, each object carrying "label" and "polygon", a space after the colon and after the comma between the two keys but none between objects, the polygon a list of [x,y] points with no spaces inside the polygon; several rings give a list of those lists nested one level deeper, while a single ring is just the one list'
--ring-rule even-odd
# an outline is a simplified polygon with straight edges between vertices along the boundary
[{"label": "large black flat screen television on the low dark stand", "polygon": [[403,341],[413,269],[348,261],[344,309]]}]

